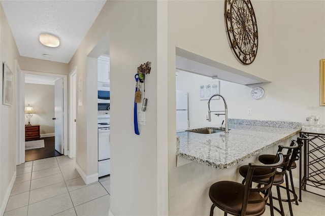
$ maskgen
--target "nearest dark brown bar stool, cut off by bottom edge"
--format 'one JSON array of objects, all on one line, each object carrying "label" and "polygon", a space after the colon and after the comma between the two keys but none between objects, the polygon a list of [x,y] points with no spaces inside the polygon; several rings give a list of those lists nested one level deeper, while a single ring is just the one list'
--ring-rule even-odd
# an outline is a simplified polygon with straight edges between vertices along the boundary
[{"label": "nearest dark brown bar stool, cut off by bottom edge", "polygon": [[[277,163],[274,164],[252,164],[247,165],[246,183],[221,181],[211,185],[209,197],[212,201],[210,216],[213,216],[213,210],[217,206],[224,211],[224,215],[228,213],[233,215],[261,215],[265,211],[265,206],[276,173],[277,167],[283,164],[283,154],[277,154]],[[254,170],[262,169],[263,174],[256,174]],[[264,187],[252,188],[251,183],[267,179]],[[264,196],[260,192],[264,192]]]}]

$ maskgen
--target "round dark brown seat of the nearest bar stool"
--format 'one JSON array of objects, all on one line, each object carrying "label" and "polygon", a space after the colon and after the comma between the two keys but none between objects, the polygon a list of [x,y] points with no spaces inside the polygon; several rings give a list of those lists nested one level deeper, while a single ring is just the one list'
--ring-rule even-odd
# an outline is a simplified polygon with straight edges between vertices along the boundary
[{"label": "round dark brown seat of the nearest bar stool", "polygon": [[[214,183],[210,187],[209,196],[211,201],[213,201],[217,207],[227,209],[234,215],[239,215],[243,206],[244,189],[245,185],[243,184],[230,181],[221,181]],[[248,200],[258,200],[262,198],[263,197],[257,192],[250,192],[248,196]],[[264,211],[265,202],[248,203],[246,215],[259,215]]]}]

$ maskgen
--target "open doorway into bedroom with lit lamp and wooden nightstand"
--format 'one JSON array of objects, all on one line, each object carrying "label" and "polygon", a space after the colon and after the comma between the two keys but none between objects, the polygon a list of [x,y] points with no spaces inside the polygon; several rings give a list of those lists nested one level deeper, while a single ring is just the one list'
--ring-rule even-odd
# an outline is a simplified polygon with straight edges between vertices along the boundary
[{"label": "open doorway into bedroom with lit lamp and wooden nightstand", "polygon": [[[56,114],[54,115],[44,115],[47,111],[46,108],[46,101],[44,101],[44,105],[42,105],[42,101],[40,103],[41,100],[40,98],[38,98],[37,96],[32,96],[29,97],[29,101],[25,101],[25,94],[24,92],[20,92],[18,97],[20,98],[21,104],[19,106],[19,110],[24,110],[25,109],[25,105],[27,105],[28,103],[30,103],[30,101],[33,101],[35,103],[38,103],[38,111],[35,111],[34,115],[34,120],[37,120],[37,116],[38,116],[38,112],[39,115],[43,115],[43,117],[45,118],[45,121],[51,121],[54,122],[56,121],[56,118],[58,118],[59,120],[59,124],[57,124],[57,126],[55,125],[55,127],[57,127],[55,129],[55,131],[48,133],[45,131],[49,131],[49,124],[44,123],[44,120],[42,120],[43,122],[40,123],[40,119],[36,122],[34,121],[34,123],[39,123],[40,124],[40,128],[43,127],[42,129],[39,129],[39,135],[40,138],[36,137],[35,139],[42,139],[44,141],[44,148],[40,148],[40,149],[32,149],[32,150],[27,150],[28,154],[25,155],[25,160],[21,160],[20,163],[24,163],[25,161],[30,161],[30,160],[37,160],[37,159],[42,159],[42,158],[47,158],[47,157],[54,157],[54,156],[58,156],[58,155],[67,155],[67,151],[68,150],[68,142],[67,142],[67,117],[68,116],[68,112],[67,112],[67,76],[66,75],[58,75],[58,74],[48,74],[48,73],[40,73],[40,72],[36,72],[36,71],[22,71],[23,74],[26,76],[26,83],[25,82],[20,82],[21,84],[24,85],[24,89],[26,90],[26,85],[39,85],[39,86],[49,86],[52,85],[52,88],[55,88],[55,86],[57,85],[57,83],[59,83],[59,87],[61,89],[61,92],[59,92],[59,94],[55,94],[54,95],[49,95],[49,97],[52,97],[53,100],[59,100],[61,101],[61,103],[59,104],[60,109],[58,109],[58,107],[56,106],[56,102],[55,105],[53,104],[53,110],[59,110],[61,115],[57,116]],[[34,76],[34,77],[33,77]],[[34,79],[34,81],[32,82],[33,84],[31,84],[32,79]],[[29,80],[28,80],[29,79]],[[54,86],[54,87],[53,87]],[[35,87],[34,87],[35,88]],[[37,87],[36,87],[37,88]],[[39,89],[39,91],[41,91],[41,89]],[[56,91],[56,90],[55,90]],[[54,98],[53,98],[54,96]],[[32,98],[32,99],[31,99]],[[32,105],[32,104],[30,104]],[[29,117],[30,118],[30,117]],[[24,116],[24,119],[26,120],[26,117]],[[33,124],[32,120],[33,117],[31,117],[30,119],[31,124]],[[25,124],[25,121],[22,121],[23,124]],[[21,124],[21,122],[19,122]],[[22,127],[24,127],[24,125],[22,125]],[[25,126],[26,127],[26,126]],[[25,130],[24,130],[25,131]],[[25,149],[25,132],[23,131],[23,139],[20,142],[20,147],[21,149]],[[56,136],[54,138],[54,135]],[[55,139],[57,139],[57,143],[55,145]],[[54,151],[54,148],[55,147]],[[51,150],[53,149],[53,151]],[[27,153],[26,151],[26,153]],[[25,151],[20,151],[18,152],[18,158],[23,158],[22,154],[25,154]]]}]

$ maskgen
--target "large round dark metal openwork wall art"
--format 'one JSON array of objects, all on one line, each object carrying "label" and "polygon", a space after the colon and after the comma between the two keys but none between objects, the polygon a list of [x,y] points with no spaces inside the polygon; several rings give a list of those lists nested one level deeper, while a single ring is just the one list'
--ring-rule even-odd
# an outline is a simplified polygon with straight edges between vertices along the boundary
[{"label": "large round dark metal openwork wall art", "polygon": [[251,64],[257,54],[258,33],[250,0],[225,0],[224,21],[236,57],[243,64]]}]

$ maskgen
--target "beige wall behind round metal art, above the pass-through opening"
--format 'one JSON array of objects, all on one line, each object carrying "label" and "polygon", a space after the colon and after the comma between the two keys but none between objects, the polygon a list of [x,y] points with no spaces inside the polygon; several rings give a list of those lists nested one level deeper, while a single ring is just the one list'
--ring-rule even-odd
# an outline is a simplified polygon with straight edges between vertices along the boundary
[{"label": "beige wall behind round metal art, above the pass-through opening", "polygon": [[259,40],[257,56],[250,65],[243,65],[234,58],[229,46],[224,24],[224,1],[170,1],[168,4],[168,44],[171,49],[179,47],[272,81],[271,1],[253,1]]}]

